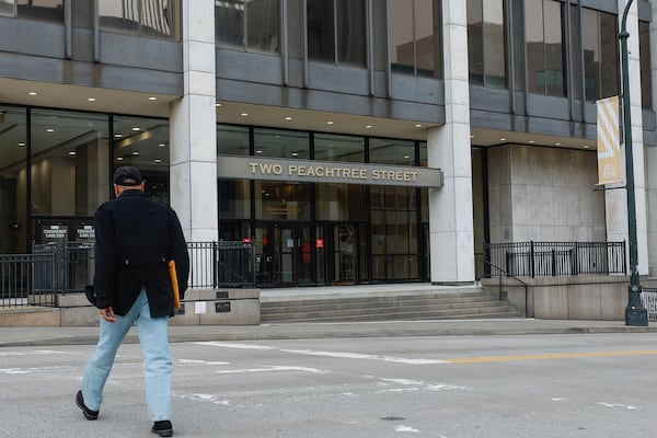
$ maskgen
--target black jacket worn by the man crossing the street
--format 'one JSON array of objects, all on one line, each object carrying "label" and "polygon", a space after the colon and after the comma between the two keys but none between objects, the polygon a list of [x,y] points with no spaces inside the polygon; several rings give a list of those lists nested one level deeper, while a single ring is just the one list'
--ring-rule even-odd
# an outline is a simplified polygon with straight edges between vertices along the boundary
[{"label": "black jacket worn by the man crossing the street", "polygon": [[146,288],[152,318],[173,316],[168,261],[174,260],[181,299],[187,289],[189,255],[173,209],[138,189],[123,192],[94,215],[96,307],[125,315]]}]

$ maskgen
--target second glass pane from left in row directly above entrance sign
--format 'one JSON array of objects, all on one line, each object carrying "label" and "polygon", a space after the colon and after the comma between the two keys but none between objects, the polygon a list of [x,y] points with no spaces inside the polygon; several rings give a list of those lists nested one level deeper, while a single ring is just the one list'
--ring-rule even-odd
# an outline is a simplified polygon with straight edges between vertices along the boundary
[{"label": "second glass pane from left in row directly above entrance sign", "polygon": [[253,130],[253,143],[255,157],[310,158],[308,132],[256,128]]}]

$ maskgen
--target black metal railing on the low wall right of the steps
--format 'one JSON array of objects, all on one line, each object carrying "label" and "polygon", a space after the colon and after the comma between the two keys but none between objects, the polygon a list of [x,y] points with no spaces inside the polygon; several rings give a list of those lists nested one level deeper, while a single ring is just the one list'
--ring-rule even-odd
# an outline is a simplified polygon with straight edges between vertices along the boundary
[{"label": "black metal railing on the low wall right of the steps", "polygon": [[625,242],[487,243],[484,260],[486,278],[627,273]]}]

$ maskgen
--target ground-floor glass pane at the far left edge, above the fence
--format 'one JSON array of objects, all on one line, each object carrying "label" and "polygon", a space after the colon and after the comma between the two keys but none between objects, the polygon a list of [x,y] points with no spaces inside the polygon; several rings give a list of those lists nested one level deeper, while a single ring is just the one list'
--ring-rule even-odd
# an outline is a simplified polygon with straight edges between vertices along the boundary
[{"label": "ground-floor glass pane at the far left edge, above the fence", "polygon": [[0,254],[27,251],[26,141],[25,110],[0,105]]}]

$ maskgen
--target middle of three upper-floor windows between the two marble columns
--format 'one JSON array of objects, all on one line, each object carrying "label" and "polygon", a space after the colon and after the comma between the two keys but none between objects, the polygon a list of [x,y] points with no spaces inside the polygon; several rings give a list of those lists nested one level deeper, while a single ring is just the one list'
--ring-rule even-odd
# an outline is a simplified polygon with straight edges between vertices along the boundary
[{"label": "middle of three upper-floor windows between the two marble columns", "polygon": [[308,0],[308,57],[365,66],[365,0]]}]

